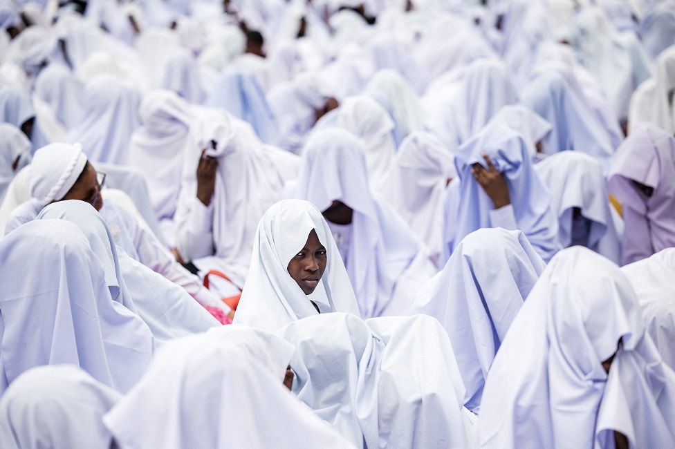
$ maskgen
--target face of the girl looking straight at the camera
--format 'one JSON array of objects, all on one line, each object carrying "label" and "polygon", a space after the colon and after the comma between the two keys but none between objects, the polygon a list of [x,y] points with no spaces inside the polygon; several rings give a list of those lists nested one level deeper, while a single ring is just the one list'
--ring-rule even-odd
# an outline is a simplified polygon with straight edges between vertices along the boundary
[{"label": "face of the girl looking straight at the camera", "polygon": [[290,259],[286,269],[302,292],[310,295],[326,271],[326,260],[326,248],[320,242],[316,231],[312,229],[304,247]]}]

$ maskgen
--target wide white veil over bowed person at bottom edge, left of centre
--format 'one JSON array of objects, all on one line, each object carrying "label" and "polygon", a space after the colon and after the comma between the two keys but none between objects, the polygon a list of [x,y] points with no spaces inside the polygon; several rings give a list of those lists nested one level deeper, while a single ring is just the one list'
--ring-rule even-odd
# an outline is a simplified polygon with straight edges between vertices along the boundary
[{"label": "wide white veil over bowed person at bottom edge, left of centre", "polygon": [[240,325],[176,339],[103,421],[122,448],[351,447],[281,384],[292,354]]}]

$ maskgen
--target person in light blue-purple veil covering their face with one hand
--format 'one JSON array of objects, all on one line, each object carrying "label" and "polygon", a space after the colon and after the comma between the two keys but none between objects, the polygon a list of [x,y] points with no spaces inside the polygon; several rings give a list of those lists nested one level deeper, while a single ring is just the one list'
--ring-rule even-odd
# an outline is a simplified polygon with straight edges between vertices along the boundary
[{"label": "person in light blue-purple veil covering their face with one hand", "polygon": [[551,195],[530,162],[523,137],[498,123],[462,144],[459,175],[446,191],[443,254],[483,227],[521,229],[544,261],[560,249]]}]

